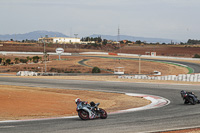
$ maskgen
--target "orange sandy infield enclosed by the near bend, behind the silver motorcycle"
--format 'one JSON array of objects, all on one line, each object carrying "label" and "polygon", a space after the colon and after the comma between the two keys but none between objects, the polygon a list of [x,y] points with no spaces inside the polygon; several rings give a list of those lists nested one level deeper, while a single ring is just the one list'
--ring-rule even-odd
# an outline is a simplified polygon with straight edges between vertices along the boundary
[{"label": "orange sandy infield enclosed by the near bend, behind the silver motorcycle", "polygon": [[77,115],[74,100],[100,102],[107,112],[145,106],[150,101],[124,94],[0,85],[0,120]]}]

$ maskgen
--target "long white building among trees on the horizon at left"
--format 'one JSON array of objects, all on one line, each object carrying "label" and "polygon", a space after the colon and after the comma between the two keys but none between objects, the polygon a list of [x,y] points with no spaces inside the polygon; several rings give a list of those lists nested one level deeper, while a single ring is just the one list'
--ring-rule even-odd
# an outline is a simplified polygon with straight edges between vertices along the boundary
[{"label": "long white building among trees on the horizon at left", "polygon": [[39,42],[46,43],[59,43],[59,44],[80,44],[80,38],[68,38],[68,37],[48,37],[39,38]]}]

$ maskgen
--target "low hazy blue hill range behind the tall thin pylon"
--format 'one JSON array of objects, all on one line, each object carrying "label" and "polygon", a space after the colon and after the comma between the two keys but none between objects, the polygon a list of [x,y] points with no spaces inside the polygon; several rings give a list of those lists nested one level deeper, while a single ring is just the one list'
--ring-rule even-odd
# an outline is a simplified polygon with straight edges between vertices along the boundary
[{"label": "low hazy blue hill range behind the tall thin pylon", "polygon": [[[103,39],[107,39],[107,40],[117,40],[117,36],[111,36],[111,35],[100,35],[100,34],[94,34],[91,35],[90,37],[98,37],[101,36],[101,38]],[[148,38],[148,37],[135,37],[135,36],[128,36],[128,35],[120,35],[120,40],[129,40],[129,41],[137,41],[140,40],[142,42],[146,41],[148,43],[171,43],[171,41],[173,42],[180,42],[177,40],[172,40],[172,39],[164,39],[164,38]]]}]

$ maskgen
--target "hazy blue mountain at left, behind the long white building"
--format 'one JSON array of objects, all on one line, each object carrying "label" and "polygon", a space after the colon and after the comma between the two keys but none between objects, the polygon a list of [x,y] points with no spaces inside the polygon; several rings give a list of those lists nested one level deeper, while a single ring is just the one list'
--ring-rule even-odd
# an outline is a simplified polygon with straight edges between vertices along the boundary
[{"label": "hazy blue mountain at left, behind the long white building", "polygon": [[53,32],[53,31],[33,31],[25,34],[6,34],[6,35],[0,35],[0,40],[38,40],[40,37],[45,37],[45,35],[48,35],[49,37],[67,37],[65,34],[62,34],[60,32]]}]

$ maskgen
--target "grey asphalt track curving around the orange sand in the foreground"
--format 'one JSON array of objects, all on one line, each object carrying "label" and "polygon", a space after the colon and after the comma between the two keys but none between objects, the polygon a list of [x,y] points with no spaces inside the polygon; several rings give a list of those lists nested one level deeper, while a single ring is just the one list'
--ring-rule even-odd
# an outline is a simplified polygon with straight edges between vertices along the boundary
[{"label": "grey asphalt track curving around the orange sand in the foreground", "polygon": [[[197,68],[195,68],[197,69]],[[181,90],[200,97],[200,85],[126,83],[0,77],[0,84],[61,89],[143,93],[164,97],[161,108],[109,115],[107,119],[83,121],[58,118],[38,121],[0,122],[0,133],[133,133],[200,127],[200,105],[184,105]]]}]

